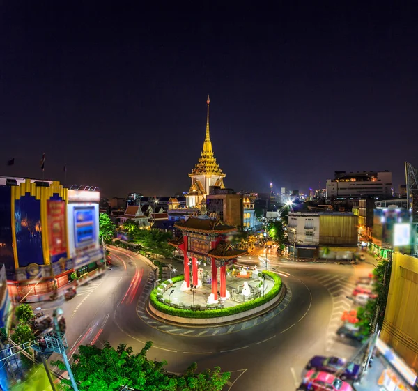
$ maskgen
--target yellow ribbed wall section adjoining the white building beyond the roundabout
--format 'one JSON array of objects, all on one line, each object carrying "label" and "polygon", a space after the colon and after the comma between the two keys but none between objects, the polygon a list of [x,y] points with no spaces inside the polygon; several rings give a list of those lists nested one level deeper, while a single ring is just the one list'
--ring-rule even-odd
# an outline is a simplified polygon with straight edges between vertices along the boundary
[{"label": "yellow ribbed wall section adjoining the white building beyond the roundabout", "polygon": [[357,245],[357,216],[319,215],[320,245]]}]

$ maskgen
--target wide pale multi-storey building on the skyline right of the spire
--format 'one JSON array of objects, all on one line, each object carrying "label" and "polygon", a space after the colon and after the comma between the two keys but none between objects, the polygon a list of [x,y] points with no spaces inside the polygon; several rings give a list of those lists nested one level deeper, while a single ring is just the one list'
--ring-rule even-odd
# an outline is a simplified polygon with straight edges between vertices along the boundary
[{"label": "wide pale multi-storey building on the skyline right of the spire", "polygon": [[392,172],[335,171],[334,179],[327,180],[327,198],[390,197]]}]

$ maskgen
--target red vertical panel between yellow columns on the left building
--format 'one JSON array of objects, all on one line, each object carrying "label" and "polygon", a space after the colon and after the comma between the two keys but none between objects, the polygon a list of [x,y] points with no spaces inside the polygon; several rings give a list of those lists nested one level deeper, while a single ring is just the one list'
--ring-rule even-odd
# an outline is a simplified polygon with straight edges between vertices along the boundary
[{"label": "red vertical panel between yellow columns on the left building", "polygon": [[48,242],[52,263],[66,256],[65,202],[47,201]]}]

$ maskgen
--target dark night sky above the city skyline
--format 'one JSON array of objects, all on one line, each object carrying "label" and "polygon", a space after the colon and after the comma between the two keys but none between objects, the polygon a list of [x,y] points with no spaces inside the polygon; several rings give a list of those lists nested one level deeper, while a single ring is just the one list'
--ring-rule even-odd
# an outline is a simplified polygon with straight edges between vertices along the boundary
[{"label": "dark night sky above the city skyline", "polygon": [[208,93],[226,187],[388,169],[397,190],[418,165],[413,1],[84,3],[1,2],[2,175],[41,178],[45,152],[45,178],[107,197],[188,190]]}]

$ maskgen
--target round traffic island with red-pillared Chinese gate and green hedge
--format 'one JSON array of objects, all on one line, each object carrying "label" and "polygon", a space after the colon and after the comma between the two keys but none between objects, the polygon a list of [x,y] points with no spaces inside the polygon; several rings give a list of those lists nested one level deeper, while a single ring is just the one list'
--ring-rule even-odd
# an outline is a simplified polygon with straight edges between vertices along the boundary
[{"label": "round traffic island with red-pillared Chinese gate and green hedge", "polygon": [[206,216],[190,217],[175,227],[182,236],[170,244],[183,253],[185,274],[151,292],[149,311],[156,319],[217,327],[263,314],[284,298],[286,286],[278,275],[236,266],[247,252],[226,241],[235,227]]}]

